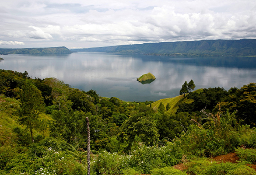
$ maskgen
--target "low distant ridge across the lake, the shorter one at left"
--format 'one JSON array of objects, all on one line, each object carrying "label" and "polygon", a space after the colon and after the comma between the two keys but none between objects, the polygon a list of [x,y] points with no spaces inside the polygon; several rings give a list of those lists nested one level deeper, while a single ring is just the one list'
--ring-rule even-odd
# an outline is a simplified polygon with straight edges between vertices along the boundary
[{"label": "low distant ridge across the lake, the shorter one at left", "polygon": [[70,54],[72,53],[67,47],[47,47],[47,48],[24,48],[24,49],[1,49],[0,54]]}]

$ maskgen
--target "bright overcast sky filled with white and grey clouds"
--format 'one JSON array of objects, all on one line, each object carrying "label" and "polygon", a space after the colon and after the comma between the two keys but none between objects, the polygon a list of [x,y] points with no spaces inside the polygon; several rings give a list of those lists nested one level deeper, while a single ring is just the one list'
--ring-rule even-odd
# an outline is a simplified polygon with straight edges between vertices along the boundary
[{"label": "bright overcast sky filled with white and grey clouds", "polygon": [[0,48],[255,39],[255,0],[1,0]]}]

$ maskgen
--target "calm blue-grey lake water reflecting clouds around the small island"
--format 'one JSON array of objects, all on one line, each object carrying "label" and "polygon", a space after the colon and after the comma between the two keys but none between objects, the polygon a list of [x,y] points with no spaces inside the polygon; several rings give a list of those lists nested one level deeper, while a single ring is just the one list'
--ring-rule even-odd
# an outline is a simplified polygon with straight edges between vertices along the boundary
[{"label": "calm blue-grey lake water reflecting clouds around the small island", "polygon": [[[2,55],[0,69],[29,73],[32,78],[56,77],[71,87],[93,89],[103,97],[125,101],[156,101],[179,95],[191,79],[195,89],[241,88],[256,82],[254,57],[168,57],[77,52],[69,55]],[[136,79],[151,72],[156,80]]]}]

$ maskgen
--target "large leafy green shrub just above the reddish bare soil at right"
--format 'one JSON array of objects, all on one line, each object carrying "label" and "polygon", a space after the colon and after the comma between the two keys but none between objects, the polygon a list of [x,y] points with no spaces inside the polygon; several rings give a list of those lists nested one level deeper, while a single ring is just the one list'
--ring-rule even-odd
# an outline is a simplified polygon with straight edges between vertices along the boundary
[{"label": "large leafy green shrub just above the reddish bare soil at right", "polygon": [[[186,133],[180,136],[180,147],[187,154],[199,157],[213,157],[234,151],[241,146],[241,134],[250,132],[246,127],[240,127],[236,123],[235,115],[221,112],[212,115],[207,114],[207,122],[202,126],[190,125]],[[194,120],[195,121],[195,120]],[[196,121],[195,121],[196,122]]]}]

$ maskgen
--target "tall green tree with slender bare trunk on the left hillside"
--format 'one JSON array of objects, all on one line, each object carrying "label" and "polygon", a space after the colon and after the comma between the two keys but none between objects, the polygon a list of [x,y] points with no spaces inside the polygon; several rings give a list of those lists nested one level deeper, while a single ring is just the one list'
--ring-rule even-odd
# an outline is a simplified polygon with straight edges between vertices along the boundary
[{"label": "tall green tree with slender bare trunk on the left hillside", "polygon": [[40,112],[44,112],[45,104],[41,91],[39,91],[31,81],[25,81],[21,87],[21,110],[19,111],[21,124],[28,127],[32,142],[34,142],[33,129],[41,128],[44,122],[40,119]]}]

